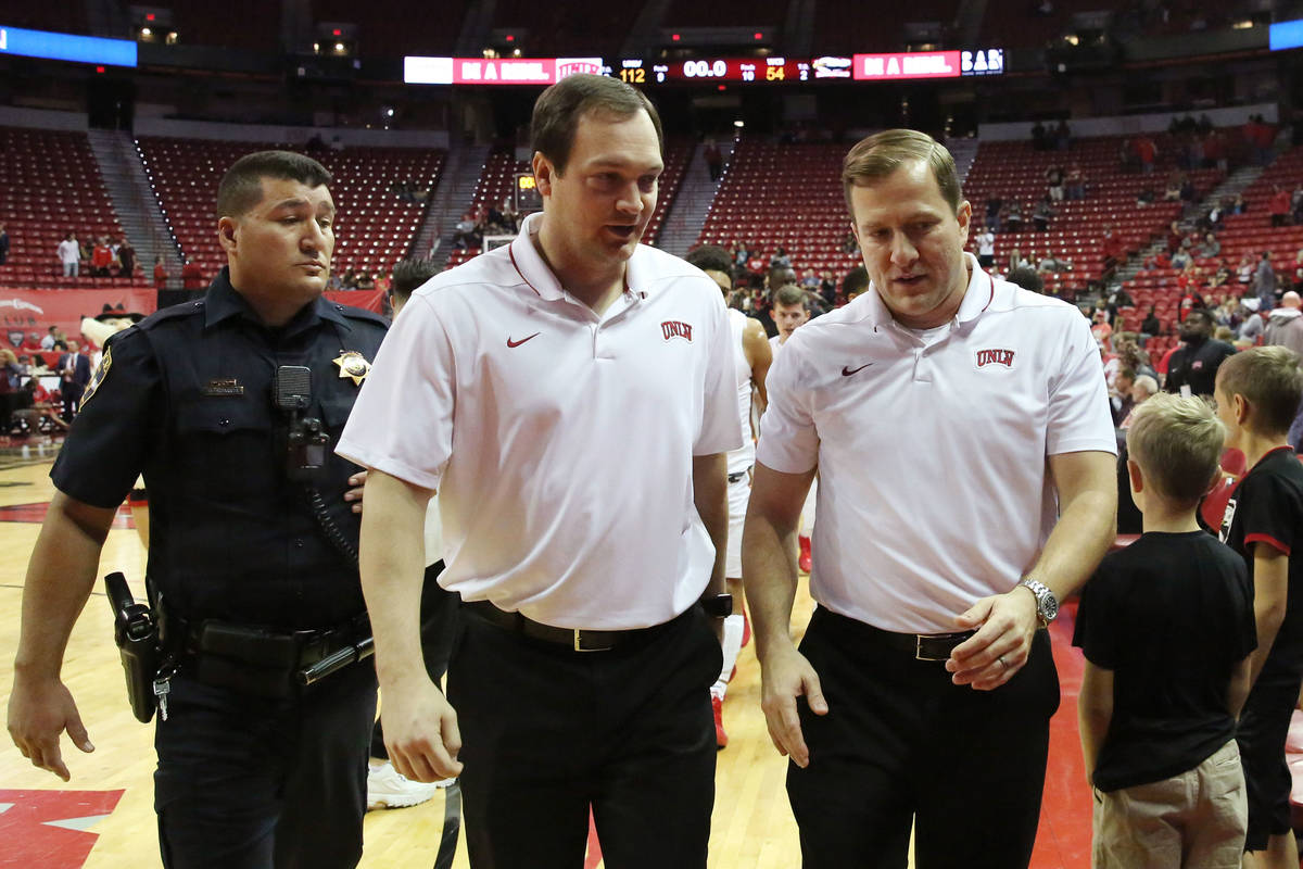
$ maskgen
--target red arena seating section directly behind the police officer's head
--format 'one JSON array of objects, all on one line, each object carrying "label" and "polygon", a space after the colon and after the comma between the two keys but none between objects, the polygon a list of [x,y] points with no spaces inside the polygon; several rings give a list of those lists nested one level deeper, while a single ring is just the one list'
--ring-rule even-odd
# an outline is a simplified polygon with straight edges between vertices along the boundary
[{"label": "red arena seating section directly behind the police officer's head", "polygon": [[[223,172],[250,151],[278,146],[181,138],[141,138],[137,145],[182,253],[211,278],[225,264],[214,215]],[[370,274],[391,268],[407,255],[426,206],[405,202],[390,190],[395,184],[412,181],[433,192],[444,152],[351,147],[313,156],[335,176],[331,194],[339,221],[332,271],[344,274],[353,268]]]}]

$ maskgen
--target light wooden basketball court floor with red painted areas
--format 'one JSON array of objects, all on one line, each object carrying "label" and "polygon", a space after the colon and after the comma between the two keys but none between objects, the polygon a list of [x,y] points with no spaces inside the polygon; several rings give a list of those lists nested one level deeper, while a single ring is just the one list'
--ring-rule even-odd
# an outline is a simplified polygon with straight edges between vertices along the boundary
[{"label": "light wooden basketball court floor with red painted areas", "polygon": [[[27,556],[52,495],[51,446],[0,451],[0,693],[8,705],[13,653]],[[99,573],[122,571],[143,597],[145,550],[124,508],[100,562]],[[794,631],[804,628],[812,602],[797,597]],[[1072,615],[1066,607],[1053,628],[1063,702],[1052,723],[1045,804],[1032,857],[1033,869],[1089,866],[1091,791],[1085,783],[1076,730],[1080,654],[1071,649]],[[82,754],[64,740],[72,782],[33,767],[8,739],[0,745],[0,866],[30,869],[150,869],[159,866],[152,810],[151,724],[139,724],[126,705],[122,671],[112,640],[112,616],[102,586],[86,605],[64,663],[91,741]],[[760,710],[760,667],[754,648],[737,661],[724,704],[728,748],[719,752],[715,810],[710,836],[711,869],[795,869],[800,865],[796,825],[783,787],[786,758],[774,750]],[[980,782],[955,782],[972,799],[990,799]],[[450,796],[451,795],[451,796]],[[361,866],[464,869],[465,848],[452,851],[456,791],[430,803],[366,816]],[[444,839],[448,842],[446,843]],[[451,860],[450,860],[451,856]],[[977,855],[975,855],[977,856]],[[602,866],[601,844],[589,836],[584,869]]]}]

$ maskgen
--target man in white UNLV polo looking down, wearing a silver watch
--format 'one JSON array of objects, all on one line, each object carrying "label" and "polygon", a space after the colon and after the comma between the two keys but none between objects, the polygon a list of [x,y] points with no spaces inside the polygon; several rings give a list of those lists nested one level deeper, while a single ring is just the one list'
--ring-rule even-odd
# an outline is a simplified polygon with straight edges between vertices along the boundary
[{"label": "man in white UNLV polo looking down, wearing a silver watch", "polygon": [[[1113,541],[1108,395],[1075,307],[984,272],[930,137],[843,185],[870,291],[769,374],[743,578],[807,866],[1025,866],[1058,680],[1038,628]],[[800,651],[790,535],[820,473]],[[804,701],[797,702],[799,697]]]}]

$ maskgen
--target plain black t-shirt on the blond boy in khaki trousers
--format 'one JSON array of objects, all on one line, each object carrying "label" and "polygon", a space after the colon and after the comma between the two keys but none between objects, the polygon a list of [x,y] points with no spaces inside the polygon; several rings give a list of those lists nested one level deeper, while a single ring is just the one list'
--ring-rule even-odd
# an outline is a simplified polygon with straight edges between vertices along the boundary
[{"label": "plain black t-shirt on the blond boy in khaki trousers", "polygon": [[1095,786],[1115,791],[1191,770],[1235,734],[1231,670],[1257,645],[1244,562],[1204,532],[1143,534],[1087,582],[1072,645],[1113,671]]}]

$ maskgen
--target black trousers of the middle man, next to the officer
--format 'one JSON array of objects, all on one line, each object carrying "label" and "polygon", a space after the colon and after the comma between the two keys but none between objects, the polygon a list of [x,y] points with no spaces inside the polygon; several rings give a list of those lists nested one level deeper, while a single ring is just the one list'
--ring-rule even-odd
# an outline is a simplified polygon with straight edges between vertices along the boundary
[{"label": "black trousers of the middle man, next to the officer", "polygon": [[470,865],[581,866],[592,808],[609,869],[705,869],[723,663],[701,608],[610,651],[460,619],[448,700]]}]

